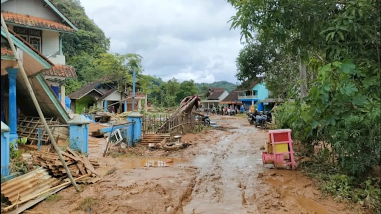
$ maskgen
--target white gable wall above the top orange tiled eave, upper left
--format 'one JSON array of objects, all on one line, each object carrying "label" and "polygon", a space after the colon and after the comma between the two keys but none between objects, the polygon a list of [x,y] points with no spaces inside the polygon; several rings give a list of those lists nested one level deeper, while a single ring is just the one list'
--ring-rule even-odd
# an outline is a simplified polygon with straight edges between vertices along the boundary
[{"label": "white gable wall above the top orange tiled eave, upper left", "polygon": [[41,0],[8,0],[1,4],[1,10],[60,21],[61,18],[44,4]]}]

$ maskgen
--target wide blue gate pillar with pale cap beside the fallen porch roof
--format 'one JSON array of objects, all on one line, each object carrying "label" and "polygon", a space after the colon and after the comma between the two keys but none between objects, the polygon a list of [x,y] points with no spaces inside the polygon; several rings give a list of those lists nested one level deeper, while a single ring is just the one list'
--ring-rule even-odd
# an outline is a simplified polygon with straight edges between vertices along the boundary
[{"label": "wide blue gate pillar with pale cap beside the fallen porch roof", "polygon": [[72,150],[87,154],[89,152],[89,124],[90,120],[84,115],[75,114],[68,121],[69,147]]}]

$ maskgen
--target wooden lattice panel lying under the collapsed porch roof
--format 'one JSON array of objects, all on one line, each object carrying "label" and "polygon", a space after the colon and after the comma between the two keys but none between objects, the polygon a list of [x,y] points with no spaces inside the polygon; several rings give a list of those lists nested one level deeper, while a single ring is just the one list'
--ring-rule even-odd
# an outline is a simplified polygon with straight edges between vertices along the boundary
[{"label": "wooden lattice panel lying under the collapsed porch roof", "polygon": [[[48,126],[59,125],[58,119],[45,118]],[[41,128],[41,143],[47,144],[49,140],[49,135],[46,129],[43,128],[43,123],[39,117],[20,117],[19,123],[17,125],[17,134],[19,137],[26,137],[30,144],[37,144],[38,141],[38,128]],[[54,127],[50,128],[53,133]]]}]

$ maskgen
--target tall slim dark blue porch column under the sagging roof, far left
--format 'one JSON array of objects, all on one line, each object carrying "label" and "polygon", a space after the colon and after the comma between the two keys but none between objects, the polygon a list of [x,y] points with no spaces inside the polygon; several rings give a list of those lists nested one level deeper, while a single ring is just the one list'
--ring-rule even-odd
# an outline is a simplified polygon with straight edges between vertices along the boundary
[{"label": "tall slim dark blue porch column under the sagging roof, far left", "polygon": [[[8,72],[8,79],[9,79],[9,96],[8,96],[8,102],[9,102],[9,117],[8,117],[8,126],[10,128],[10,134],[9,134],[9,140],[10,142],[14,142],[18,139],[17,134],[17,101],[16,101],[16,77],[18,68],[6,68],[5,69]],[[15,149],[17,149],[17,143],[13,144],[15,146]]]}]

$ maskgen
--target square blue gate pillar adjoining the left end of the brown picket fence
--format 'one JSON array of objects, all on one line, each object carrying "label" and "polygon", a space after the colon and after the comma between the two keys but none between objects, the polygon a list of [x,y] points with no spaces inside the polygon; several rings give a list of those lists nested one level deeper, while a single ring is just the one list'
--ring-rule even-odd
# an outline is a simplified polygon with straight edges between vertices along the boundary
[{"label": "square blue gate pillar adjoining the left end of the brown picket fence", "polygon": [[128,122],[134,122],[130,125],[127,130],[128,145],[135,146],[137,143],[141,142],[142,139],[142,117],[139,112],[132,112],[127,116]]}]

